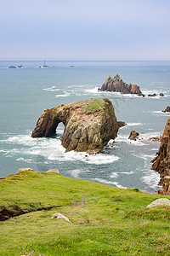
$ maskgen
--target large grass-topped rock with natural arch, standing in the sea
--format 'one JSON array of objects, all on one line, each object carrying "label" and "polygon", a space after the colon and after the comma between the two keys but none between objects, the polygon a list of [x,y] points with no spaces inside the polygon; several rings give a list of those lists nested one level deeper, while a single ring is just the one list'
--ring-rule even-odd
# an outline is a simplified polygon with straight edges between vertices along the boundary
[{"label": "large grass-topped rock with natural arch, standing in the sea", "polygon": [[59,122],[65,125],[61,142],[66,152],[99,153],[118,131],[112,103],[107,98],[98,98],[46,108],[31,137],[50,137]]}]

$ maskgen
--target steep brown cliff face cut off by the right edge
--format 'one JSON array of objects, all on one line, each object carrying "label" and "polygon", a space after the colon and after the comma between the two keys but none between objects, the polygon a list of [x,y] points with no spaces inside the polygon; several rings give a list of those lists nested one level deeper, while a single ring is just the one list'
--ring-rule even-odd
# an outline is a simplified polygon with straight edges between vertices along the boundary
[{"label": "steep brown cliff face cut off by the right edge", "polygon": [[165,125],[157,155],[151,162],[153,163],[152,170],[160,173],[160,184],[164,186],[164,177],[170,176],[170,118]]}]

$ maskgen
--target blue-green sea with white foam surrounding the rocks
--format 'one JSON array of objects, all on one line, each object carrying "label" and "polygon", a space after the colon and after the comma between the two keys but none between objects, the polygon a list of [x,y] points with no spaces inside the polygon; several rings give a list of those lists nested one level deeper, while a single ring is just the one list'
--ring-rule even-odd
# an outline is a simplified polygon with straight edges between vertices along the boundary
[{"label": "blue-green sea with white foam surrounding the rocks", "polygon": [[[22,64],[25,68],[8,69]],[[151,170],[160,143],[149,137],[161,135],[170,117],[161,110],[170,105],[170,61],[0,61],[0,177],[20,167],[35,171],[58,168],[66,177],[139,188],[159,189],[159,174]],[[73,65],[74,67],[69,67]],[[98,92],[109,75],[139,84],[144,94],[163,92],[164,97],[139,97]],[[64,125],[50,138],[31,138],[44,108],[80,99],[108,97],[118,120],[125,121],[115,143],[110,141],[97,155],[69,152],[61,146]],[[128,140],[130,131],[140,140]]]}]

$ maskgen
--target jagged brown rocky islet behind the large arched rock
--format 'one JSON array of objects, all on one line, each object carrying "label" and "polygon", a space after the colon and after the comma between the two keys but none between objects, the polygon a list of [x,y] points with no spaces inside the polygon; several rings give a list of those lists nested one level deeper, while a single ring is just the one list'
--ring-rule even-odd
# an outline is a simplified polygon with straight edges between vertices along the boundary
[{"label": "jagged brown rocky islet behind the large arched rock", "polygon": [[99,89],[99,91],[105,90],[121,92],[123,94],[136,94],[138,96],[144,96],[137,84],[124,83],[118,74],[116,74],[113,79],[111,76],[109,76],[109,78],[102,85],[101,89]]}]

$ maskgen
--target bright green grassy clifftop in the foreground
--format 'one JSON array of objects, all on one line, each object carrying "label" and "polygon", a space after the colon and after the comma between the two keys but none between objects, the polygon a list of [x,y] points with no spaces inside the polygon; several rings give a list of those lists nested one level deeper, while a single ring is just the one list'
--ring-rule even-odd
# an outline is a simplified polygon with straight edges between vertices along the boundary
[{"label": "bright green grassy clifftop in the foreground", "polygon": [[1,179],[0,193],[1,208],[27,212],[0,222],[2,256],[170,255],[170,207],[145,208],[161,195],[31,171]]}]

